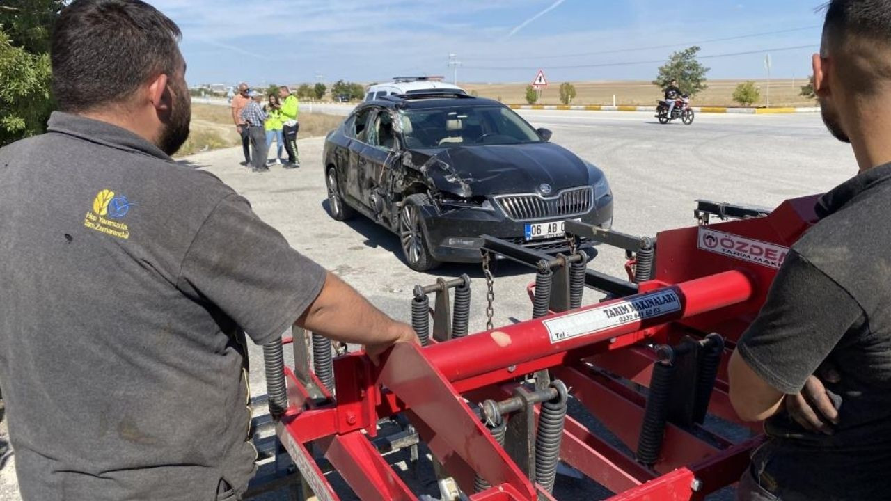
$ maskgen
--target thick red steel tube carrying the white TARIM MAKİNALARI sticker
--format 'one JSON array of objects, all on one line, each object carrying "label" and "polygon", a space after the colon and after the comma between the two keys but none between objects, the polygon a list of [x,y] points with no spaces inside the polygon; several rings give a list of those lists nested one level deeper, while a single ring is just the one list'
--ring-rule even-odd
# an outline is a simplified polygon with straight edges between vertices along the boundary
[{"label": "thick red steel tube carrying the white TARIM MAK\u0130NALARI sticker", "polygon": [[[552,341],[545,323],[548,320],[603,310],[632,301],[648,300],[666,292],[674,292],[680,300],[680,308],[667,313],[638,319],[616,326],[604,327],[593,333]],[[665,324],[699,315],[707,311],[728,307],[750,299],[754,285],[740,271],[725,271],[689,282],[677,283],[655,291],[644,292],[617,300],[536,318],[519,324],[507,325],[493,331],[478,333],[465,338],[429,346],[423,349],[431,365],[449,381],[459,381],[490,371],[517,365],[532,359],[566,352],[600,341],[608,341],[628,334],[638,333],[654,325]],[[589,314],[591,315],[591,314]],[[603,317],[606,317],[604,313]],[[618,321],[617,321],[618,322]]]}]

